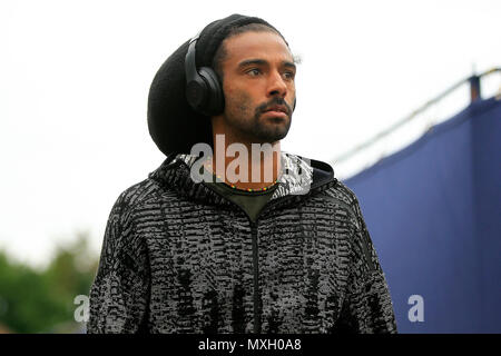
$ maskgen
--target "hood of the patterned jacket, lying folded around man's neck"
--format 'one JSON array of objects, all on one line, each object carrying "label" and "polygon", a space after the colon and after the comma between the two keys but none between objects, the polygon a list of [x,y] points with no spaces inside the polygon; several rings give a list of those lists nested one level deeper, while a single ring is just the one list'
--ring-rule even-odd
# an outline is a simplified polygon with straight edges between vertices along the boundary
[{"label": "hood of the patterned jacket, lying folded around man's neck", "polygon": [[[171,154],[148,177],[160,186],[174,189],[187,198],[224,204],[223,200],[226,199],[222,198],[205,182],[195,182],[190,176],[194,164],[204,159],[206,159],[204,156]],[[271,200],[287,196],[295,197],[295,200],[301,200],[318,189],[326,189],[333,186],[337,181],[331,165],[320,160],[282,151],[281,166],[282,171],[277,180],[278,187],[275,189]]]}]

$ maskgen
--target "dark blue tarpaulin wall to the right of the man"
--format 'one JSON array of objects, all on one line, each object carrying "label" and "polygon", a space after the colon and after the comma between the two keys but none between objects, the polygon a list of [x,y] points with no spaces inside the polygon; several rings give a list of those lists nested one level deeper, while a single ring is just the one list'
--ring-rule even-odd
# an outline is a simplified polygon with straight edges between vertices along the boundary
[{"label": "dark blue tarpaulin wall to the right of the man", "polygon": [[501,100],[474,101],[344,182],[400,333],[501,333]]}]

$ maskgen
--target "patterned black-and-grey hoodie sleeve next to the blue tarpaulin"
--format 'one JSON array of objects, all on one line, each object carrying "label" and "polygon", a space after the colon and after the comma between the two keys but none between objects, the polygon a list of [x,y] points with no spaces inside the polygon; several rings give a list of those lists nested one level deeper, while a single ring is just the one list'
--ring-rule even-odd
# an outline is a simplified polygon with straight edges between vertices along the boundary
[{"label": "patterned black-and-grey hoodie sleeve next to the blue tarpaulin", "polygon": [[355,229],[346,294],[334,332],[396,334],[396,323],[384,273],[358,202],[353,205]]}]

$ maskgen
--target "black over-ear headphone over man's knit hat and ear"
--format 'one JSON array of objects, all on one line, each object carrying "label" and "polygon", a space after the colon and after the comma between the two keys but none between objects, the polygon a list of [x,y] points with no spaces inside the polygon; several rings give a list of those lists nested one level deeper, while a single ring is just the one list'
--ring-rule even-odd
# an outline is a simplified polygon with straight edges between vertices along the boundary
[{"label": "black over-ear headphone over man's knit hat and ear", "polygon": [[216,116],[224,110],[225,97],[219,78],[212,68],[202,67],[197,70],[195,46],[199,36],[200,33],[189,41],[185,58],[186,99],[195,111],[206,116]]}]

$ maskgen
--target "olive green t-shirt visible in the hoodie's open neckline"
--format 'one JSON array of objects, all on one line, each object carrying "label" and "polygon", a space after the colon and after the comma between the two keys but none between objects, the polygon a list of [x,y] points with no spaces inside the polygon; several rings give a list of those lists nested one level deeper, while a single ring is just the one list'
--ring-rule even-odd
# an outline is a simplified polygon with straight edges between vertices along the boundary
[{"label": "olive green t-shirt visible in the hoodie's open neckline", "polygon": [[209,182],[220,195],[232,200],[244,209],[249,216],[252,221],[256,221],[259,211],[264,208],[266,202],[272,198],[277,185],[272,186],[269,189],[261,191],[246,191],[242,189],[235,189],[227,184],[217,181]]}]

